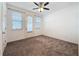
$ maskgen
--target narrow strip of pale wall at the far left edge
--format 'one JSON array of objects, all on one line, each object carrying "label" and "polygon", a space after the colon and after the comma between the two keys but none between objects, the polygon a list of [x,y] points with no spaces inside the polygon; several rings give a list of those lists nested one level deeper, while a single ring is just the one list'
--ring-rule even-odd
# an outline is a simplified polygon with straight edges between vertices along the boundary
[{"label": "narrow strip of pale wall at the far left edge", "polygon": [[2,3],[0,2],[0,56],[2,55]]}]

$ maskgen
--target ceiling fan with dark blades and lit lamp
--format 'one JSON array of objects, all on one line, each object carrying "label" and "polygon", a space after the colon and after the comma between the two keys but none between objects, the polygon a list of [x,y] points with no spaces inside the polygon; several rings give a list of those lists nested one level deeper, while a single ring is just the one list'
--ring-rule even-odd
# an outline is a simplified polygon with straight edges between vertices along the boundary
[{"label": "ceiling fan with dark blades and lit lamp", "polygon": [[46,8],[46,6],[49,4],[49,2],[39,2],[39,3],[36,3],[34,2],[35,5],[37,5],[38,7],[37,8],[33,8],[33,10],[36,10],[38,9],[38,11],[42,12],[44,10],[50,10],[49,8]]}]

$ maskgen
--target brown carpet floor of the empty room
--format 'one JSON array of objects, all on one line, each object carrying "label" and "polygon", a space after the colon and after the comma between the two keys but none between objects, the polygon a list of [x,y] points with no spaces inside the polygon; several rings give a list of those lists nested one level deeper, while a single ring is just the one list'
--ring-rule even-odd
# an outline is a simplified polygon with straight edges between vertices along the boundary
[{"label": "brown carpet floor of the empty room", "polygon": [[77,56],[78,45],[47,36],[10,42],[4,56]]}]

